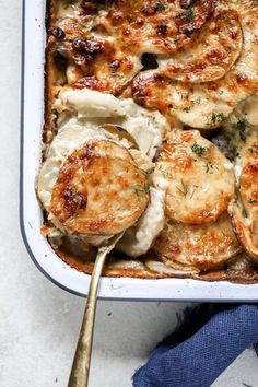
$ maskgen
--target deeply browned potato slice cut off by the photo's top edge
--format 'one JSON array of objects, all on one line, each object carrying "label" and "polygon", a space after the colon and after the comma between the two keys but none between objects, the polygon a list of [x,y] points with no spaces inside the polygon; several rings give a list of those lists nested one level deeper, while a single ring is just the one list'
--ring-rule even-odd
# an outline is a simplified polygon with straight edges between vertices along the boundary
[{"label": "deeply browned potato slice cut off by the photo's top edge", "polygon": [[103,25],[121,51],[172,54],[191,42],[214,12],[215,0],[115,1]]}]

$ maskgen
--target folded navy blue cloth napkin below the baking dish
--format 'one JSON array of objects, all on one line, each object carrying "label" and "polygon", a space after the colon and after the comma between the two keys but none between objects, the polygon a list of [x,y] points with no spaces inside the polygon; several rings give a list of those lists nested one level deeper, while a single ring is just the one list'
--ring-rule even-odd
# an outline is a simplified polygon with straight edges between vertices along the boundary
[{"label": "folded navy blue cloth napkin below the baking dish", "polygon": [[258,355],[258,304],[202,304],[151,353],[134,387],[210,387],[248,347]]}]

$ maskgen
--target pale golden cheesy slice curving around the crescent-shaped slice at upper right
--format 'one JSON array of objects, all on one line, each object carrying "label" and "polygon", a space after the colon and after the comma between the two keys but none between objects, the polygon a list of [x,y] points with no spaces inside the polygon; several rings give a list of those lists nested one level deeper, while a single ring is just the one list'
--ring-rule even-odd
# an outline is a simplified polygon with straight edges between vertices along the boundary
[{"label": "pale golden cheesy slice curving around the crescent-shaped slice at upper right", "polygon": [[132,84],[132,95],[138,103],[169,112],[184,125],[213,129],[222,126],[242,101],[257,93],[257,4],[249,0],[223,4],[237,13],[244,36],[241,56],[234,66],[221,79],[199,84],[169,80],[159,69],[143,71]]}]

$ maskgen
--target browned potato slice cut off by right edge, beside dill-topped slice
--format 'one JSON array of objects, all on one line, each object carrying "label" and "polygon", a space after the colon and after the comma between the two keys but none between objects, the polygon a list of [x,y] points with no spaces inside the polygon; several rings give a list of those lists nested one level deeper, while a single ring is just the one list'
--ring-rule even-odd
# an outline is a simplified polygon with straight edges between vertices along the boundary
[{"label": "browned potato slice cut off by right edge, beside dill-topped slice", "polygon": [[247,254],[258,261],[258,134],[239,151],[238,197],[228,207],[232,223]]}]

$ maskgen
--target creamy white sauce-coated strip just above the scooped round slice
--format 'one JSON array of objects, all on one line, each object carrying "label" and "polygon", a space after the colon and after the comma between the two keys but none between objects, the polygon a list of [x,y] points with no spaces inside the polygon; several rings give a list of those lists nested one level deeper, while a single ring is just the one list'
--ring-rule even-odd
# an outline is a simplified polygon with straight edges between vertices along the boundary
[{"label": "creamy white sauce-coated strip just above the scooped round slice", "polygon": [[98,126],[107,122],[121,126],[136,139],[140,150],[150,160],[161,148],[162,134],[169,128],[166,119],[159,112],[149,112],[129,98],[118,99],[112,94],[89,89],[64,90],[59,94],[55,106],[59,112],[71,112],[79,119],[97,118],[90,121]]}]

